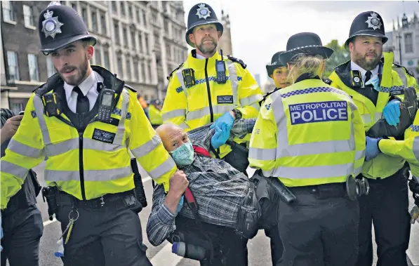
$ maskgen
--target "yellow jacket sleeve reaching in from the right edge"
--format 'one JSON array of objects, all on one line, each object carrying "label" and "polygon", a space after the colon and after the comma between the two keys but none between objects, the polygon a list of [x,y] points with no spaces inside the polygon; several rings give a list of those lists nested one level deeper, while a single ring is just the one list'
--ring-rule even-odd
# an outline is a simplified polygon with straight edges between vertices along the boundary
[{"label": "yellow jacket sleeve reaching in from the right edge", "polygon": [[419,176],[419,112],[413,124],[404,132],[404,140],[383,139],[380,151],[389,156],[399,156],[408,161],[412,175]]}]

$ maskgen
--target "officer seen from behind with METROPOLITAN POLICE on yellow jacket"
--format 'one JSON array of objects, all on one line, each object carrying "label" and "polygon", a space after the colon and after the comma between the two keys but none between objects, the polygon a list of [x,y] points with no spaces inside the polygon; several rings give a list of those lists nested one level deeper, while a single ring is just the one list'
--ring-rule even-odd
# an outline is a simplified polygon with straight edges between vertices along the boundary
[{"label": "officer seen from behind with METROPOLITAN POLICE on yellow jacket", "polygon": [[284,253],[277,265],[355,265],[358,202],[345,181],[364,162],[365,133],[352,99],[320,79],[333,50],[317,34],[291,36],[281,62],[293,85],[260,107],[249,161],[297,200],[279,202]]}]

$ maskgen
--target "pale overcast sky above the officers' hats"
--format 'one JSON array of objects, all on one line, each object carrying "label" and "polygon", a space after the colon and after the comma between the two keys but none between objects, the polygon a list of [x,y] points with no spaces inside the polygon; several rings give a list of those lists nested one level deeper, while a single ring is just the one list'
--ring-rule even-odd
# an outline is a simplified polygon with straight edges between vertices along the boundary
[{"label": "pale overcast sky above the officers' hats", "polygon": [[[185,22],[190,8],[198,1],[184,1]],[[419,15],[418,1],[204,1],[221,18],[221,9],[230,15],[233,55],[243,60],[253,76],[267,79],[265,65],[277,51],[286,50],[288,38],[298,32],[314,32],[323,44],[338,39],[343,44],[352,20],[361,12],[375,11],[385,23],[385,31],[397,27],[406,12],[409,18]],[[400,22],[401,23],[401,22]]]}]

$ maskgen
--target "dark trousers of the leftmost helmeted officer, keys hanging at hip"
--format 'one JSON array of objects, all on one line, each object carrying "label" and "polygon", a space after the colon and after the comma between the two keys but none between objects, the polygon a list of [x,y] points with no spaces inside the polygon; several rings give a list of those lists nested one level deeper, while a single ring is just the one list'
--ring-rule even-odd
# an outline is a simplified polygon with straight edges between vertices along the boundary
[{"label": "dark trousers of the leftmost helmeted officer, keys hanging at hip", "polygon": [[[106,195],[105,195],[106,196]],[[86,203],[69,194],[57,195],[58,211],[55,217],[64,232],[69,213],[76,218],[69,241],[64,245],[65,266],[150,266],[142,244],[142,230],[138,214],[128,208],[123,197],[105,204]],[[136,201],[136,199],[135,199]],[[76,212],[77,211],[77,212]],[[64,235],[65,240],[67,234]]]}]

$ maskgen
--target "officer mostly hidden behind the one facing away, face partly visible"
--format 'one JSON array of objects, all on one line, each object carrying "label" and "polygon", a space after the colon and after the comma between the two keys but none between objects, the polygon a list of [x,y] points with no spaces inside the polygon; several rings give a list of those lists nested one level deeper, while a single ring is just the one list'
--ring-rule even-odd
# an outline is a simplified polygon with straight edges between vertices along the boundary
[{"label": "officer mostly hidden behind the one facing away, face partly visible", "polygon": [[[286,88],[290,85],[287,80],[288,67],[286,64],[283,64],[279,60],[279,55],[284,52],[285,51],[274,53],[274,55],[272,55],[271,63],[266,65],[267,75],[274,80],[275,88],[273,91],[267,92],[265,95],[263,95],[263,99],[259,102],[260,105],[263,105],[269,95],[281,88]],[[278,214],[272,213],[272,215],[277,216]],[[281,237],[279,236],[278,226],[265,229],[265,234],[270,238],[272,265],[277,265],[277,262],[281,258],[282,252],[284,251]]]}]

